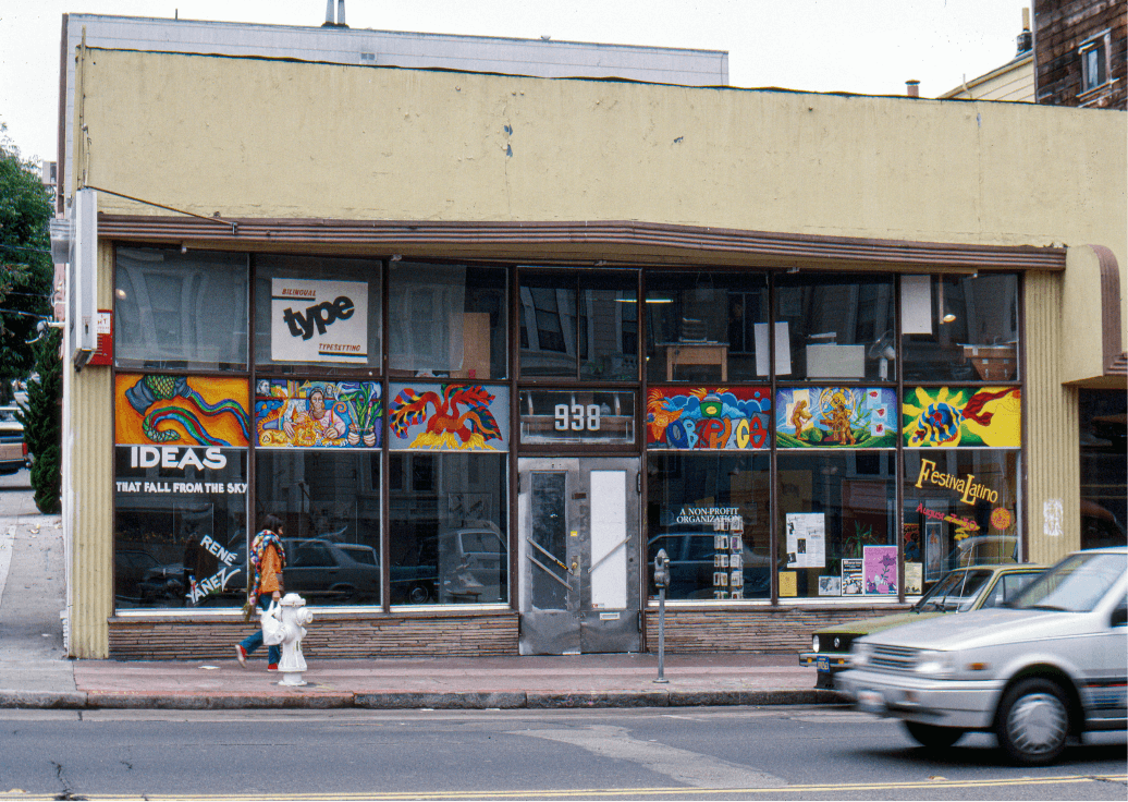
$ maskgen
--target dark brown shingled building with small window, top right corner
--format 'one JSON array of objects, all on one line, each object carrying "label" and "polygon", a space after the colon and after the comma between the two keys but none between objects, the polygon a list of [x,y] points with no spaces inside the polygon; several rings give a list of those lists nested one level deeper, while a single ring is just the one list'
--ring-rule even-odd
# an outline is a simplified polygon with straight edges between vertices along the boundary
[{"label": "dark brown shingled building with small window, top right corner", "polygon": [[1038,103],[1125,111],[1123,0],[1034,0],[1033,7]]}]

